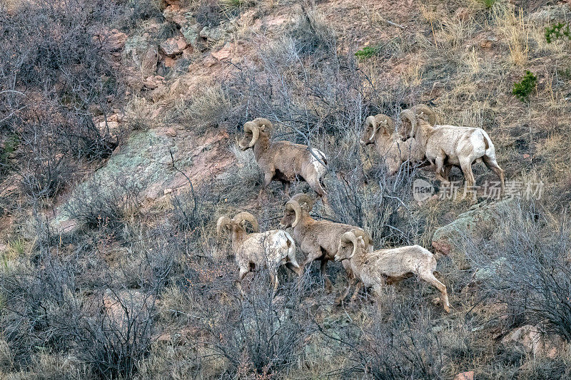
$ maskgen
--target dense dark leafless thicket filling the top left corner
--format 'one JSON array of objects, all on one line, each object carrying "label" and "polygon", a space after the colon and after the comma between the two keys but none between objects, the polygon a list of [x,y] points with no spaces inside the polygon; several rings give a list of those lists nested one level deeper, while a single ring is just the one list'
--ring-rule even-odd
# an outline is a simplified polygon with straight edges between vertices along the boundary
[{"label": "dense dark leafless thicket filling the top left corner", "polygon": [[[111,113],[111,101],[123,93],[121,71],[99,35],[122,11],[108,0],[41,0],[1,14],[0,123],[21,147],[36,151],[49,140],[66,160],[105,158],[116,148],[116,136],[94,116]],[[53,175],[32,175],[38,178],[28,178],[26,188],[53,195]]]}]

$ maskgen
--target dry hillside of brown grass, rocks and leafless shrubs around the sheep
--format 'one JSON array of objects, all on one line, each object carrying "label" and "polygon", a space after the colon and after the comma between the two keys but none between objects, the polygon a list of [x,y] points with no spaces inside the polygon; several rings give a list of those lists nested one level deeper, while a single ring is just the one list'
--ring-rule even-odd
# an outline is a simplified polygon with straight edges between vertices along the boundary
[{"label": "dry hillside of brown grass, rocks and leafless shrubs around the sheep", "polygon": [[[571,21],[568,4],[14,4],[0,4],[2,379],[571,376],[571,44],[544,36]],[[181,36],[184,51],[156,47]],[[523,102],[512,86],[526,71],[537,86]],[[286,200],[273,183],[256,202],[243,123],[269,118],[274,138],[328,155],[331,207],[315,217],[365,228],[376,248],[433,250],[470,202],[415,201],[413,180],[433,175],[388,178],[358,143],[366,116],[399,125],[418,103],[484,128],[507,180],[545,183],[540,200],[477,199],[484,217],[438,263],[453,312],[415,279],[335,306],[338,263],[333,292],[313,265],[299,282],[281,272],[275,297],[268,273],[251,274],[242,299],[216,219],[248,210],[273,229]],[[481,164],[475,178],[495,180]],[[526,325],[555,351],[510,341]]]}]

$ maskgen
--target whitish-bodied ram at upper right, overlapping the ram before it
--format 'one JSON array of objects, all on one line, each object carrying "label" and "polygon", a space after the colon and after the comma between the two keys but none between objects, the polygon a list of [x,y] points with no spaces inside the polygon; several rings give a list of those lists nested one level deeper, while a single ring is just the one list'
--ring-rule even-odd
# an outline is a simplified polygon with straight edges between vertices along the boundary
[{"label": "whitish-bodied ram at upper right, overlapping the ram before it", "polygon": [[495,148],[482,128],[435,125],[436,115],[428,106],[415,106],[400,113],[402,140],[415,138],[426,158],[435,164],[436,178],[448,183],[453,165],[460,166],[466,179],[466,190],[475,185],[472,164],[483,162],[500,178],[504,192],[504,171],[497,165]]}]

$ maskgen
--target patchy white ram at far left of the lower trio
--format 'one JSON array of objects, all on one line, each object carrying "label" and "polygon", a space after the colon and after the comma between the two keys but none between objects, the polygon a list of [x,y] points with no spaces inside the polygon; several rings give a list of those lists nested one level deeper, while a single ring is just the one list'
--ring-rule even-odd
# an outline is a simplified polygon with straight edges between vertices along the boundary
[{"label": "patchy white ram at far left of the lower trio", "polygon": [[[246,233],[244,222],[250,222],[255,233]],[[240,212],[232,219],[227,216],[218,218],[216,231],[218,237],[223,230],[231,233],[232,250],[238,264],[237,286],[242,291],[241,281],[251,269],[256,267],[268,268],[273,291],[278,289],[278,267],[285,264],[298,275],[301,268],[295,260],[295,242],[282,230],[258,232],[258,221],[250,212]]]}]

